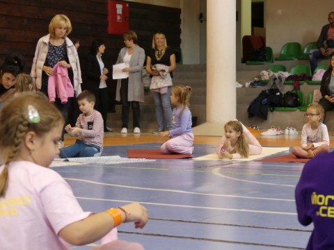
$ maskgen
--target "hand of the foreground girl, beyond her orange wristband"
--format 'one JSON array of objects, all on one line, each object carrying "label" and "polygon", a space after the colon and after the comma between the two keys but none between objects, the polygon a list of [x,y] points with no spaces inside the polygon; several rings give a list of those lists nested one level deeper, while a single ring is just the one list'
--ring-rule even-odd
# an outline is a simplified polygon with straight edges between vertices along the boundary
[{"label": "hand of the foreground girl, beyond her orange wristband", "polygon": [[134,222],[135,228],[143,228],[148,222],[148,210],[139,203],[122,206],[126,211],[125,222]]}]

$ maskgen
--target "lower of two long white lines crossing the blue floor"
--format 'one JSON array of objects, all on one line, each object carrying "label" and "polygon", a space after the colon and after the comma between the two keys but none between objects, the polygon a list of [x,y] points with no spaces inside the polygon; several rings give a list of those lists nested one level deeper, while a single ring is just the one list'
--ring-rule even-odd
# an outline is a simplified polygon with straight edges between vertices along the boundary
[{"label": "lower of two long white lines crossing the blue floor", "polygon": [[287,212],[278,212],[278,211],[264,211],[264,210],[249,210],[249,209],[236,209],[236,208],[214,208],[214,207],[205,207],[205,206],[187,206],[187,205],[178,205],[170,203],[153,203],[153,202],[143,202],[143,201],[122,201],[114,199],[100,199],[100,198],[88,198],[88,197],[76,197],[77,199],[85,199],[92,201],[113,201],[113,202],[125,202],[125,203],[134,203],[140,202],[145,205],[155,205],[155,206],[170,206],[175,208],[198,208],[198,209],[209,209],[209,210],[221,210],[221,211],[234,211],[234,212],[247,212],[247,213],[266,213],[266,214],[275,214],[275,215],[294,215],[297,213],[287,213]]}]

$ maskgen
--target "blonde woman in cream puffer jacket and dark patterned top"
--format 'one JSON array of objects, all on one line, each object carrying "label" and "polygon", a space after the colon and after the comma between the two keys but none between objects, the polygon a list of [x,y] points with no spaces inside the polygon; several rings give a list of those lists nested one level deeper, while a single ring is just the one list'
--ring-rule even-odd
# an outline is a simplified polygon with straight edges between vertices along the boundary
[{"label": "blonde woman in cream puffer jacket and dark patterned top", "polygon": [[[49,97],[49,77],[54,76],[56,65],[60,70],[67,69],[67,76],[74,87],[76,96],[81,92],[82,80],[79,56],[73,42],[67,38],[71,31],[70,19],[65,15],[55,15],[49,23],[49,34],[38,40],[31,67],[31,77],[38,90],[46,94],[47,97]],[[63,72],[66,72],[66,70]],[[65,124],[67,124],[70,102],[71,99],[67,103],[61,103],[59,98],[56,98],[55,102],[65,118]],[[61,141],[63,141],[63,135]],[[60,142],[60,145],[62,145],[62,142]]]}]

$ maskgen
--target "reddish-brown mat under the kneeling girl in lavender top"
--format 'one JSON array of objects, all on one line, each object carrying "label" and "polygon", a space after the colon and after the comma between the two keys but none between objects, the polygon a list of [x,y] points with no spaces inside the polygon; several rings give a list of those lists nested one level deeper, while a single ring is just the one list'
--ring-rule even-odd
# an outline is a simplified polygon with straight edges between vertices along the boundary
[{"label": "reddish-brown mat under the kneeling girl in lavender top", "polygon": [[146,159],[182,159],[193,158],[189,154],[163,154],[160,149],[129,149],[128,158],[146,158]]}]

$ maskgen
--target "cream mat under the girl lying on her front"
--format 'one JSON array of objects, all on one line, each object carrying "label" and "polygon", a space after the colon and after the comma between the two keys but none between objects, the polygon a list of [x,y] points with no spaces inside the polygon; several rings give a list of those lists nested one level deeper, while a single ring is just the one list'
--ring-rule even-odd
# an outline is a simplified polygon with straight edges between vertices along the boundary
[{"label": "cream mat under the girl lying on her front", "polygon": [[262,147],[262,153],[260,155],[249,156],[248,158],[241,159],[218,159],[216,153],[212,153],[206,156],[200,156],[193,158],[192,160],[238,160],[238,161],[249,161],[249,160],[257,160],[264,158],[266,156],[271,156],[275,153],[281,153],[284,151],[289,151],[289,147]]}]

